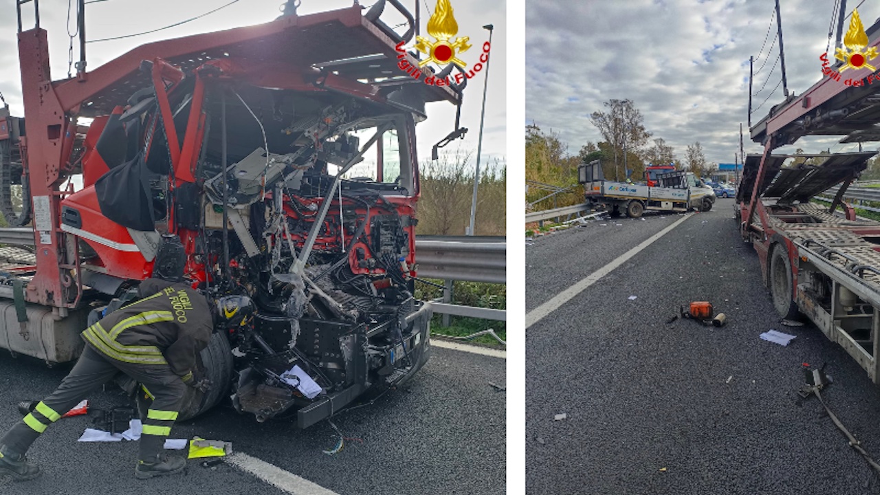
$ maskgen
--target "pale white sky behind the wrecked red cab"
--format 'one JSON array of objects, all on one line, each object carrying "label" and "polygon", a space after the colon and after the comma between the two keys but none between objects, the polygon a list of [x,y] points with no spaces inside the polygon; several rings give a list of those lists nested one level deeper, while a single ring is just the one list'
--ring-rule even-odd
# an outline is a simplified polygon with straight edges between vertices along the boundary
[{"label": "pale white sky behind the wrecked red cab", "polygon": [[[228,4],[230,0],[106,0],[88,4],[86,0],[87,39],[98,40],[120,36],[128,33],[141,33],[163,26],[169,26],[187,18],[194,18],[207,11]],[[410,11],[414,11],[414,2],[422,2],[422,33],[431,12],[434,11],[436,0],[402,0]],[[76,0],[73,0],[76,4]],[[88,69],[94,69],[128,50],[150,41],[178,38],[195,33],[219,31],[231,27],[249,26],[268,22],[276,18],[283,0],[239,0],[236,4],[212,13],[204,18],[172,27],[158,33],[145,34],[118,41],[90,43],[86,47]],[[327,11],[348,7],[353,0],[302,0],[298,10],[300,15],[317,11]],[[366,7],[373,0],[361,2]],[[506,47],[504,39],[505,3],[495,0],[451,0],[458,35],[470,36],[473,48],[459,55],[467,68],[478,62],[481,45],[488,40],[488,31],[481,26],[493,24],[491,77],[488,80],[488,98],[486,104],[486,124],[483,137],[483,164],[505,157],[505,84],[503,77],[506,72]],[[25,28],[33,27],[33,3],[22,6]],[[386,7],[390,10],[391,7]],[[49,57],[54,79],[65,78],[68,72],[68,31],[64,26],[67,18],[68,2],[66,0],[42,0],[40,2],[40,27],[48,31]],[[427,11],[427,13],[426,13]],[[76,23],[71,15],[70,33],[76,30]],[[0,92],[11,107],[13,115],[23,115],[21,103],[21,79],[18,72],[18,48],[16,41],[17,22],[15,16],[15,0],[0,0]],[[74,60],[79,60],[78,41],[75,42]],[[76,70],[74,70],[75,72]],[[456,141],[447,147],[453,150],[461,146],[464,150],[473,151],[476,156],[477,136],[480,129],[480,103],[486,70],[480,71],[476,78],[471,79],[462,106],[461,125],[469,132],[466,139]],[[455,107],[446,102],[433,103],[428,106],[428,120],[419,124],[418,145],[420,160],[430,159],[431,147],[442,137],[449,134],[454,127]]]}]

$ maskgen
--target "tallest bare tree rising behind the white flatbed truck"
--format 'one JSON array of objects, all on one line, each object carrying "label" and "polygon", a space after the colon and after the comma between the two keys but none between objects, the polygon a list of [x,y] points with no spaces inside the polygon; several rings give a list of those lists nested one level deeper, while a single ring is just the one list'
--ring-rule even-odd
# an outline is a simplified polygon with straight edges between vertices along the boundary
[{"label": "tallest bare tree rising behind the white flatbed truck", "polygon": [[614,180],[620,181],[618,156],[641,148],[651,137],[645,129],[644,117],[633,105],[633,100],[605,101],[607,112],[593,112],[590,119],[605,141],[612,145],[614,154]]}]

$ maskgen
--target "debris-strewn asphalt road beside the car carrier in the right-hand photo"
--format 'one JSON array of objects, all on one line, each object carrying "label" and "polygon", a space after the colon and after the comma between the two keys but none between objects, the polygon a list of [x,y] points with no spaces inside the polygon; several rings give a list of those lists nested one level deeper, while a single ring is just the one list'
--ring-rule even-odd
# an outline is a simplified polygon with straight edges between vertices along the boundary
[{"label": "debris-strewn asphalt road beside the car carrier in the right-hand photo", "polygon": [[[528,493],[880,492],[818,401],[796,394],[802,363],[827,364],[825,402],[880,455],[878,389],[815,327],[781,326],[732,204],[693,214],[526,330]],[[527,243],[528,310],[681,217],[644,218]],[[693,300],[730,324],[665,323]],[[760,340],[769,329],[796,338]]]}]

